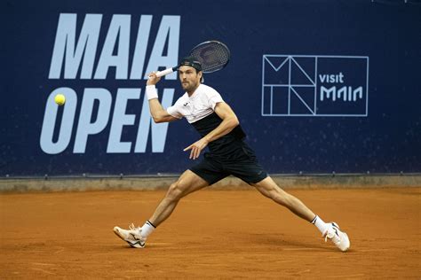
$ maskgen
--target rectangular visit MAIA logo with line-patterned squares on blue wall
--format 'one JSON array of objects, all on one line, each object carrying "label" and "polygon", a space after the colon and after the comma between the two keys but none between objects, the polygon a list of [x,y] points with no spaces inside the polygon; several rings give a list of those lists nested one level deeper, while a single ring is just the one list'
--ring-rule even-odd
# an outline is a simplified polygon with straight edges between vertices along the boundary
[{"label": "rectangular visit MAIA logo with line-patterned squares on blue wall", "polygon": [[262,116],[367,117],[369,57],[263,55]]}]

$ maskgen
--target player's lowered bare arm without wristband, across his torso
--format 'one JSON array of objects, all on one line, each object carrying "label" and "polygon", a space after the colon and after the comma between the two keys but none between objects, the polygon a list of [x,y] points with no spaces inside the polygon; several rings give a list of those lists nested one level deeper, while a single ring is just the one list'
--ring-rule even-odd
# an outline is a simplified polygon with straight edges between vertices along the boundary
[{"label": "player's lowered bare arm without wristband, across his torso", "polygon": [[230,133],[236,126],[240,124],[237,116],[235,115],[233,109],[225,102],[218,102],[215,105],[215,113],[218,114],[219,118],[222,119],[222,122],[218,125],[217,128],[213,129],[210,133],[204,136],[199,141],[196,141],[194,144],[189,145],[184,151],[192,150],[190,152],[190,159],[199,158],[202,150],[212,141],[217,140],[218,138],[225,136]]}]

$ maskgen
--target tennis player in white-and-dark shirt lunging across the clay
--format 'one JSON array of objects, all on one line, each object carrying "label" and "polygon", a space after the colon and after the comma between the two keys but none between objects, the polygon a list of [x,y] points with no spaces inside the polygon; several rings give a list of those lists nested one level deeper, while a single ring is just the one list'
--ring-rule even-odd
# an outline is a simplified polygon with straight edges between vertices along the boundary
[{"label": "tennis player in white-and-dark shirt lunging across the clay", "polygon": [[198,159],[204,152],[203,159],[186,170],[172,183],[155,213],[142,227],[129,229],[114,228],[115,234],[135,248],[143,248],[147,237],[170,217],[187,194],[203,189],[228,175],[234,175],[255,187],[266,198],[285,206],[298,217],[311,222],[342,252],[349,249],[350,241],[335,222],[323,222],[298,198],[283,191],[258,163],[254,151],[244,142],[245,133],[237,116],[227,105],[217,90],[204,85],[201,63],[193,57],[183,58],[179,64],[179,81],[186,93],[166,110],[158,100],[155,84],[159,82],[155,73],[147,80],[147,98],[150,113],[155,122],[178,121],[185,117],[202,136],[198,141],[187,146],[190,159]]}]

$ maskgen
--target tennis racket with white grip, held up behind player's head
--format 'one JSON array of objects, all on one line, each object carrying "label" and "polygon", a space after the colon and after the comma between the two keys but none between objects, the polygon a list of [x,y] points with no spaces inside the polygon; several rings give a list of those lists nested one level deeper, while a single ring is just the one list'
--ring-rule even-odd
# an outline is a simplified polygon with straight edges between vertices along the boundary
[{"label": "tennis racket with white grip, held up behind player's head", "polygon": [[[202,71],[206,74],[224,68],[229,62],[230,52],[225,43],[207,41],[195,46],[195,48],[190,51],[190,56],[200,61],[203,68]],[[156,72],[156,76],[162,77],[177,70],[179,70],[179,66],[174,66],[172,68]]]}]

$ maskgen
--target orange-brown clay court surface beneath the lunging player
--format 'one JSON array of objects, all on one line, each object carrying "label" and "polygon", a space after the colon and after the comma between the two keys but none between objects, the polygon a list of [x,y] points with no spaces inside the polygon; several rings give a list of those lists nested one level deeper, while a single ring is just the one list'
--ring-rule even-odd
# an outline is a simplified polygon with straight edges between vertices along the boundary
[{"label": "orange-brown clay court surface beneath the lunging player", "polygon": [[290,190],[351,238],[340,253],[258,191],[203,190],[132,249],[164,191],[0,195],[0,278],[421,278],[421,189]]}]

